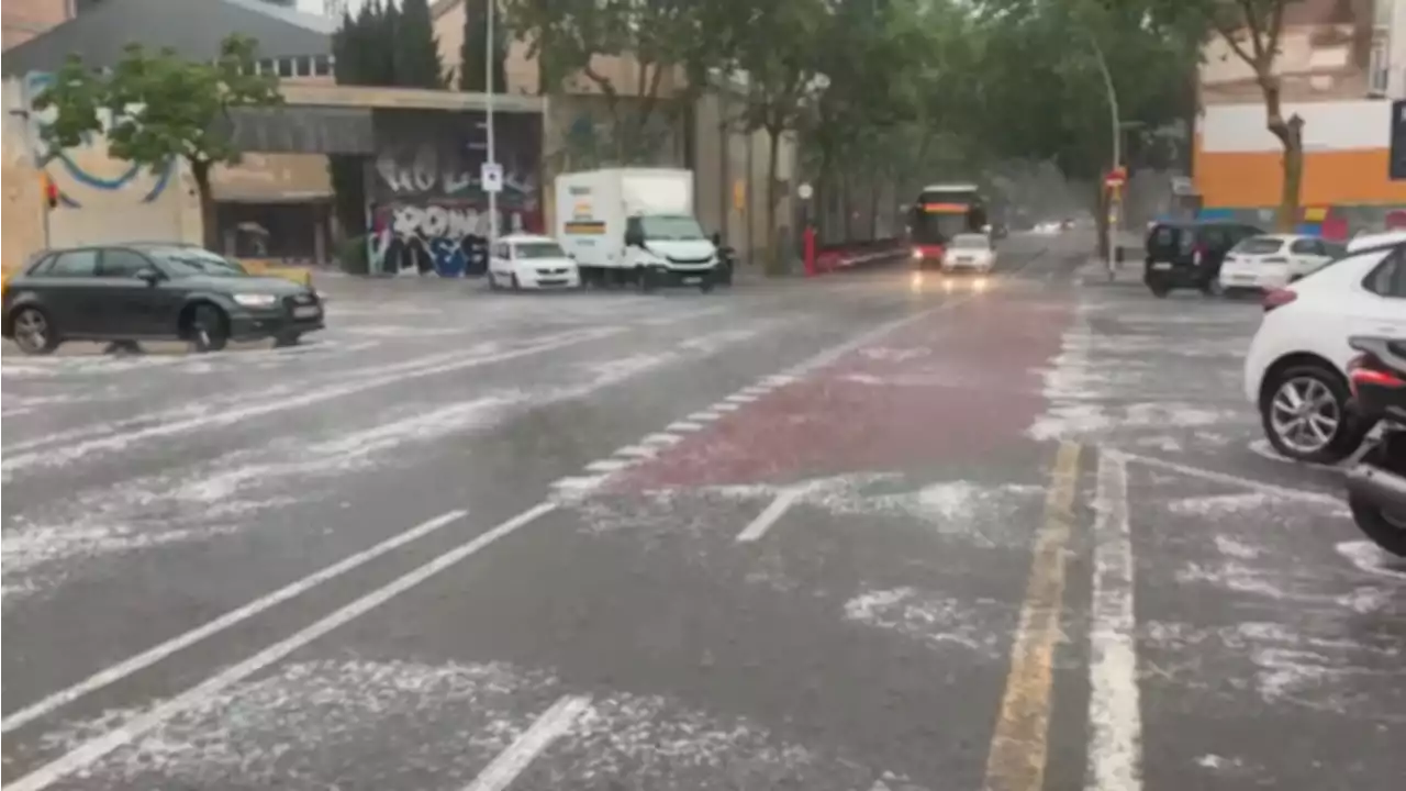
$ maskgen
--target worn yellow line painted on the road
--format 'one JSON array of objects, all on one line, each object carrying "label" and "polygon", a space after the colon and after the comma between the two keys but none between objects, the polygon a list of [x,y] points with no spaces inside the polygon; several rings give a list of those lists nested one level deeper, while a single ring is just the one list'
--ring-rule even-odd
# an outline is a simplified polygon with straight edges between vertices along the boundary
[{"label": "worn yellow line painted on the road", "polygon": [[1011,671],[986,761],[984,791],[1040,791],[1045,785],[1054,643],[1064,604],[1064,557],[1074,519],[1078,456],[1078,443],[1063,442],[1054,457],[1045,522],[1035,538],[1035,560],[1011,646]]}]

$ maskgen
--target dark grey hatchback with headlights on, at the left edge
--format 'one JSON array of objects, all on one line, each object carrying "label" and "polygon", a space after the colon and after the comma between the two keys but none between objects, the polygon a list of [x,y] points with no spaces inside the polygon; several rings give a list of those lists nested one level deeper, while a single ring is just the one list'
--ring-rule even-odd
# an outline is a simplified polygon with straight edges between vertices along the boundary
[{"label": "dark grey hatchback with headlights on, at the left edge", "polygon": [[45,252],[10,279],[0,303],[0,336],[28,355],[65,341],[179,339],[208,352],[273,338],[287,346],[322,322],[311,289],[176,243]]}]

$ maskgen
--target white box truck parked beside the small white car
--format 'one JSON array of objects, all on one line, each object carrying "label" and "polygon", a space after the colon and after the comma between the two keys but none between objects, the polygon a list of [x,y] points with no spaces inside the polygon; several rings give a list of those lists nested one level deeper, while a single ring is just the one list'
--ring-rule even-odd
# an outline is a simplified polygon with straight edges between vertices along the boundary
[{"label": "white box truck parked beside the small white car", "polygon": [[721,279],[718,249],[693,215],[693,173],[616,167],[557,176],[557,241],[588,286],[697,286]]}]

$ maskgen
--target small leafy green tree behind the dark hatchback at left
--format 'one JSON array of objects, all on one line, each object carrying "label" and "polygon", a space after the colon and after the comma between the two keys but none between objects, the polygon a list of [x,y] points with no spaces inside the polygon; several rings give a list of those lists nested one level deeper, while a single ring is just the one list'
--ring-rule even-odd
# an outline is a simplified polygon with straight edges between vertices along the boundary
[{"label": "small leafy green tree behind the dark hatchback at left", "polygon": [[257,45],[232,35],[214,62],[187,61],[172,49],[148,52],[129,44],[117,66],[93,70],[70,55],[53,83],[35,101],[53,110],[44,141],[58,149],[83,145],[104,134],[108,152],[160,172],[183,162],[195,182],[205,245],[218,246],[211,173],[217,165],[239,163],[240,151],[229,124],[240,107],[281,104],[278,79],[254,72]]}]

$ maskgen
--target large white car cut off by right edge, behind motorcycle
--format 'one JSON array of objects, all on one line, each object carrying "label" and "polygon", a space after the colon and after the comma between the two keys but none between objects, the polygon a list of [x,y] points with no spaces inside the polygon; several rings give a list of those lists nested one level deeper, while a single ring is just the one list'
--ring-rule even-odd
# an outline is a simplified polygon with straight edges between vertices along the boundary
[{"label": "large white car cut off by right edge, behind motorcycle", "polygon": [[1244,396],[1275,450],[1302,462],[1351,456],[1372,426],[1353,415],[1354,335],[1406,341],[1406,239],[1354,239],[1347,256],[1264,297]]}]

